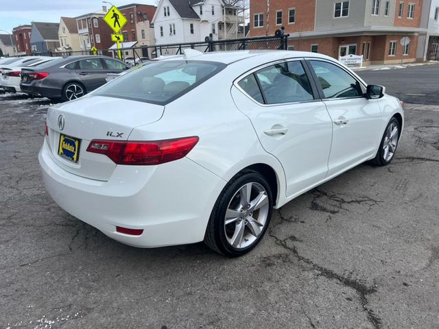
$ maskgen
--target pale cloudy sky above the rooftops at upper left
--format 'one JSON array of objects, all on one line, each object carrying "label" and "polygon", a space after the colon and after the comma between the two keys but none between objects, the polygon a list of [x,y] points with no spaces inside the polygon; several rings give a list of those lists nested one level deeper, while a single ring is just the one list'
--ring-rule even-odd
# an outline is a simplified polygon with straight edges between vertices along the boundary
[{"label": "pale cloudy sky above the rooftops at upper left", "polygon": [[[154,5],[156,0],[109,0],[119,6],[129,3]],[[102,10],[101,0],[0,0],[0,29],[11,32],[18,25],[30,22],[60,23],[60,16],[75,17],[88,12]],[[0,34],[4,34],[1,32]]]}]

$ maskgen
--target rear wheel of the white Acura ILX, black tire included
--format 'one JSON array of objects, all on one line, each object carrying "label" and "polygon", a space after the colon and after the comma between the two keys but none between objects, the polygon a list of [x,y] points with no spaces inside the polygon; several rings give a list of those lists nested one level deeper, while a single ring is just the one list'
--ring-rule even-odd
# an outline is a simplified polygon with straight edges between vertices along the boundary
[{"label": "rear wheel of the white Acura ILX, black tire included", "polygon": [[236,175],[213,207],[204,243],[228,257],[250,252],[268,228],[272,207],[272,191],[263,175],[256,171]]}]

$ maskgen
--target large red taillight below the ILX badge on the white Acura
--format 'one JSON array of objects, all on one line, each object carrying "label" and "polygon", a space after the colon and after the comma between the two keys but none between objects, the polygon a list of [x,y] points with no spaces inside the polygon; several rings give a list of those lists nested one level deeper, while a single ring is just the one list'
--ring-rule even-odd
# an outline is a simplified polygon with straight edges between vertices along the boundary
[{"label": "large red taillight below the ILX badge on the white Acura", "polygon": [[198,139],[192,136],[149,142],[93,140],[87,151],[105,154],[116,164],[154,165],[185,157]]}]

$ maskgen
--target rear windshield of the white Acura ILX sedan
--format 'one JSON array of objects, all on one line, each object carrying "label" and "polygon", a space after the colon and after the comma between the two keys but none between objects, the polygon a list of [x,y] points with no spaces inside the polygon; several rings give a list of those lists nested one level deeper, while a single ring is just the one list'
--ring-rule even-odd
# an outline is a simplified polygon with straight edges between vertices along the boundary
[{"label": "rear windshield of the white Acura ILX sedan", "polygon": [[218,62],[157,61],[126,73],[93,95],[165,105],[224,69]]}]

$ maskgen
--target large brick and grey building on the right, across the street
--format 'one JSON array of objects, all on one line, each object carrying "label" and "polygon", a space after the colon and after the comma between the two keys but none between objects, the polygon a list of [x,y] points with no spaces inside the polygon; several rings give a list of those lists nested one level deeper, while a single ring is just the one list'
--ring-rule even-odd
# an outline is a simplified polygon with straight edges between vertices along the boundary
[{"label": "large brick and grey building on the right, across the street", "polygon": [[[250,36],[285,26],[289,49],[334,58],[363,55],[365,64],[414,62],[423,0],[250,0]],[[401,45],[407,37],[408,45]]]}]

